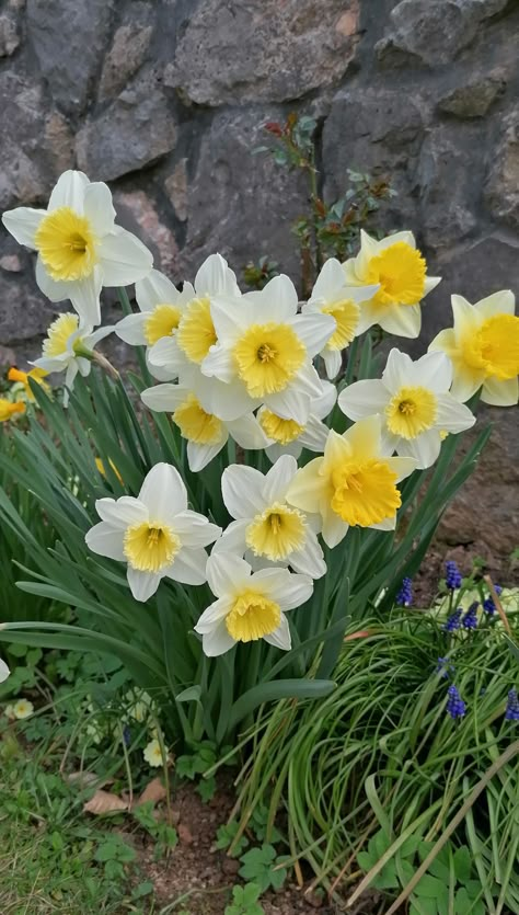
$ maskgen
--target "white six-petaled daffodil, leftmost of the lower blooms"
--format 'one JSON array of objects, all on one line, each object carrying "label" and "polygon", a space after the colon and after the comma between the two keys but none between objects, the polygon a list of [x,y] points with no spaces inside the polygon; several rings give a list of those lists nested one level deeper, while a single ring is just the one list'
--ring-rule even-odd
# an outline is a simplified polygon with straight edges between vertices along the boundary
[{"label": "white six-petaled daffodil, leftmost of the lower blooms", "polygon": [[166,576],[184,584],[204,584],[207,554],[221,528],[187,508],[187,492],[169,464],[157,464],[137,499],[99,499],[101,524],[86,534],[86,546],[100,556],[128,565],[136,601],[148,601]]}]

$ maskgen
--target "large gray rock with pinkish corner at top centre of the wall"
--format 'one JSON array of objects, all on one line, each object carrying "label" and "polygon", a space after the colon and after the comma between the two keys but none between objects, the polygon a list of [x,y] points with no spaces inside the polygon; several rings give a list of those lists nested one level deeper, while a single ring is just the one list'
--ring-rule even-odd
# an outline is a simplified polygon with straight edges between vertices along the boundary
[{"label": "large gray rock with pinkish corner at top centre of the wall", "polygon": [[197,104],[284,101],[337,82],[357,44],[359,0],[203,0],[166,71]]}]

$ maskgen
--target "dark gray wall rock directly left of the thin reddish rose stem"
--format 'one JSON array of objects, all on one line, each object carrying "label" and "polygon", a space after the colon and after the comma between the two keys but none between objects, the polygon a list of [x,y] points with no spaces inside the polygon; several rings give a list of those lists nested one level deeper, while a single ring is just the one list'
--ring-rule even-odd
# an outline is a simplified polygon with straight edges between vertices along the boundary
[{"label": "dark gray wall rock directly left of the thin reddish rose stem", "polygon": [[237,274],[266,254],[297,282],[299,256],[290,226],[307,210],[307,188],[270,156],[252,156],[264,140],[262,125],[279,116],[273,108],[249,107],[214,118],[187,192],[184,277],[193,278],[201,261],[219,251]]}]

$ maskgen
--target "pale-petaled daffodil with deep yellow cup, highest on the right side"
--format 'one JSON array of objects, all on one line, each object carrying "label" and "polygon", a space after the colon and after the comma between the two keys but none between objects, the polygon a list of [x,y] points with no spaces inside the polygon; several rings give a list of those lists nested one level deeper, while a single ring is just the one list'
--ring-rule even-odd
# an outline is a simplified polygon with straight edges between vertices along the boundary
[{"label": "pale-petaled daffodil with deep yellow cup, highest on the right side", "polygon": [[427,276],[413,232],[395,232],[377,241],[361,229],[360,251],[343,267],[347,286],[379,286],[374,296],[362,302],[357,334],[379,324],[397,336],[418,336],[419,302],[440,277]]}]

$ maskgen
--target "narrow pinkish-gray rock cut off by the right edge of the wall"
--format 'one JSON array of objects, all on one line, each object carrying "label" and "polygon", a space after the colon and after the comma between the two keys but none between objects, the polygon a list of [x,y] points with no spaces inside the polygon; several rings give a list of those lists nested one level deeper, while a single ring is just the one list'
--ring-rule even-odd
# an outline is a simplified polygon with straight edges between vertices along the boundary
[{"label": "narrow pinkish-gray rock cut off by the right edge of the wall", "polygon": [[519,229],[519,105],[505,117],[491,162],[486,203],[496,219]]}]

